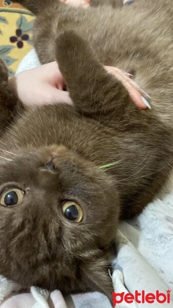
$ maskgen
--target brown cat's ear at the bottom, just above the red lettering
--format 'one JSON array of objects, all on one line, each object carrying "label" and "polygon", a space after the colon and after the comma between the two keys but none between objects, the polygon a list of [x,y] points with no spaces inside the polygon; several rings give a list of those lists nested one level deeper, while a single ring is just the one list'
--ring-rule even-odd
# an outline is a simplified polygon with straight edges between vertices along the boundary
[{"label": "brown cat's ear at the bottom, just above the red lettering", "polygon": [[103,293],[112,302],[113,284],[107,260],[101,258],[85,263],[82,273],[87,290]]}]

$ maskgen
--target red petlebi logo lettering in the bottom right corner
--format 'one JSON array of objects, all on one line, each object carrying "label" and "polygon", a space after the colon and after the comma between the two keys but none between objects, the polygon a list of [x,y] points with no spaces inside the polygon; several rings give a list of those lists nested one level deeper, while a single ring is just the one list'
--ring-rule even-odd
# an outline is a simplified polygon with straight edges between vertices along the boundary
[{"label": "red petlebi logo lettering in the bottom right corner", "polygon": [[[148,303],[148,304],[154,304],[156,302],[163,304],[168,303],[170,304],[170,290],[167,290],[166,293],[161,293],[159,290],[156,291],[156,293],[145,293],[144,290],[141,292],[135,291],[135,294],[132,293],[112,293],[113,296],[113,306],[116,307],[117,304],[122,303],[123,301],[131,304],[134,301],[136,303]],[[118,308],[118,306],[117,306]]]}]

